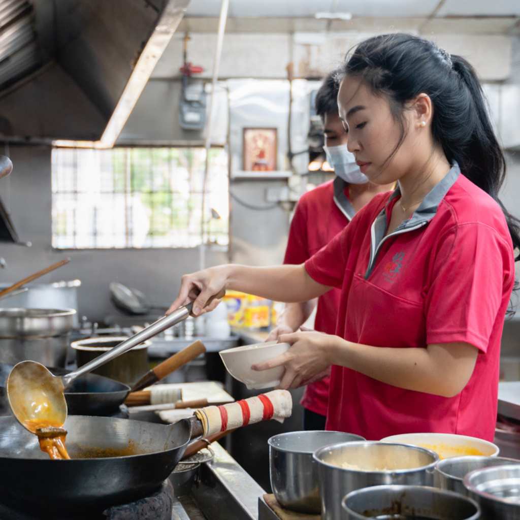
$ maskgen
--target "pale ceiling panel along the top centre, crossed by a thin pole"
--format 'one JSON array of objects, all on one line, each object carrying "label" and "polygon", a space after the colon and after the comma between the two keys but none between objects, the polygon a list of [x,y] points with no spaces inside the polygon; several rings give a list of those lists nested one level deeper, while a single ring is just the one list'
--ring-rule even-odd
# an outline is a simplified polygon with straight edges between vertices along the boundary
[{"label": "pale ceiling panel along the top centre, crossed by a thin pole", "polygon": [[[314,17],[317,12],[351,12],[354,16],[423,17],[437,6],[438,0],[230,0],[229,17]],[[186,16],[215,17],[220,12],[218,0],[192,2]]]}]

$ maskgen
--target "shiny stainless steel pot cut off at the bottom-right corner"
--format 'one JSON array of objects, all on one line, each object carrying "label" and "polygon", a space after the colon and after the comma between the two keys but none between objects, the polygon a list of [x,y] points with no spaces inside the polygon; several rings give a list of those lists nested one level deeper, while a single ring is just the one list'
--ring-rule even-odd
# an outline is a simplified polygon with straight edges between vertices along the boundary
[{"label": "shiny stainless steel pot cut off at the bottom-right corner", "polygon": [[485,520],[520,520],[520,463],[486,467],[464,477]]}]

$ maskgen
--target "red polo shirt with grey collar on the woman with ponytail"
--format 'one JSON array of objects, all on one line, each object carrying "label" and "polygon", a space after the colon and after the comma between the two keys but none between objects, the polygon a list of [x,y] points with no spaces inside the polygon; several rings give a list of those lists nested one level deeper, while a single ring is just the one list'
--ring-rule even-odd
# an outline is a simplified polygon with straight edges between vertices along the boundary
[{"label": "red polo shirt with grey collar on the woman with ponytail", "polygon": [[493,439],[500,339],[514,283],[499,205],[454,165],[417,212],[381,241],[396,190],[375,197],[306,264],[341,288],[336,334],[377,347],[466,342],[479,350],[462,392],[440,397],[333,366],[327,429],[381,439],[446,432]]}]

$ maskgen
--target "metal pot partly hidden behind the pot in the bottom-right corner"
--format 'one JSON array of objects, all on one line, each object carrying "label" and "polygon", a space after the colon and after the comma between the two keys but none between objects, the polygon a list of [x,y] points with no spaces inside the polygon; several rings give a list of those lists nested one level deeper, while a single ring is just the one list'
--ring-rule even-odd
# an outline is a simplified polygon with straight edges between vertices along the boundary
[{"label": "metal pot partly hidden behind the pot in the bottom-right corner", "polygon": [[452,457],[439,461],[435,468],[435,485],[441,489],[468,495],[462,482],[464,477],[484,467],[505,466],[519,461],[505,457]]}]

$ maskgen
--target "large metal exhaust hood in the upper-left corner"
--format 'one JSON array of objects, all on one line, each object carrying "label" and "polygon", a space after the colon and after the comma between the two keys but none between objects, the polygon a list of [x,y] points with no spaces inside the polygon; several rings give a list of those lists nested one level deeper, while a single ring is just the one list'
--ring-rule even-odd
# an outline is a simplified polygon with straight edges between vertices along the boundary
[{"label": "large metal exhaust hood in the upper-left corner", "polygon": [[0,141],[99,140],[189,2],[0,0]]}]

